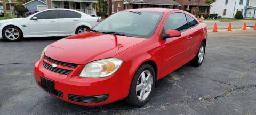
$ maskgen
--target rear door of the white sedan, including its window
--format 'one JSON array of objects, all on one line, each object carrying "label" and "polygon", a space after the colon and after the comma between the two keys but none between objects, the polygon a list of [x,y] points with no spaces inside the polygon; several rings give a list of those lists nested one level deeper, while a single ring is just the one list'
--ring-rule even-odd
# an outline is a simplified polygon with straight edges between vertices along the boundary
[{"label": "rear door of the white sedan, including its window", "polygon": [[81,19],[81,14],[70,10],[58,10],[58,34],[71,34],[76,31],[76,24]]}]

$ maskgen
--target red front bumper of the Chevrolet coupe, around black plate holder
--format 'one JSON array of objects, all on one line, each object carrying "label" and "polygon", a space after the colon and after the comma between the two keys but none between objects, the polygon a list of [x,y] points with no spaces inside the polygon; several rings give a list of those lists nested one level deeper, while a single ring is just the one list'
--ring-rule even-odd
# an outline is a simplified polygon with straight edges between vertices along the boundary
[{"label": "red front bumper of the Chevrolet coupe, around black plate holder", "polygon": [[[68,75],[61,75],[44,68],[42,59],[41,62],[35,63],[34,75],[37,85],[44,91],[78,105],[105,105],[122,100],[128,95],[130,83],[125,79],[127,78],[125,75],[129,75],[126,74],[127,70],[119,68],[113,75],[104,78],[83,78],[79,77],[83,67],[84,65],[78,65],[76,70]],[[41,86],[41,77],[54,81],[53,92]]]}]

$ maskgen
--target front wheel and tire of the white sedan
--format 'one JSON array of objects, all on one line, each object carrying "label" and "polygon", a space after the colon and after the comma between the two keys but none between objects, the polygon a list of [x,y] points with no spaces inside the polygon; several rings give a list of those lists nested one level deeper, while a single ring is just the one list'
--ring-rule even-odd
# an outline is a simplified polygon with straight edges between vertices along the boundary
[{"label": "front wheel and tire of the white sedan", "polygon": [[7,26],[2,31],[2,36],[7,41],[18,41],[20,40],[23,35],[20,28],[15,26]]}]

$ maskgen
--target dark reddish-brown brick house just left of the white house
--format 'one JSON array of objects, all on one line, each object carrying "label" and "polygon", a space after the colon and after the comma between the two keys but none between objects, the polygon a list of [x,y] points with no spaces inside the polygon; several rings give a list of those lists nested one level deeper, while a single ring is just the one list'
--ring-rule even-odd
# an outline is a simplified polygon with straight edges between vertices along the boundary
[{"label": "dark reddish-brown brick house just left of the white house", "polygon": [[[181,4],[179,9],[185,10],[191,14],[196,14],[196,8],[198,0],[175,0],[175,2],[178,2]],[[206,0],[201,0],[199,3],[199,11],[201,14],[209,14],[210,13],[210,5],[205,4]]]}]

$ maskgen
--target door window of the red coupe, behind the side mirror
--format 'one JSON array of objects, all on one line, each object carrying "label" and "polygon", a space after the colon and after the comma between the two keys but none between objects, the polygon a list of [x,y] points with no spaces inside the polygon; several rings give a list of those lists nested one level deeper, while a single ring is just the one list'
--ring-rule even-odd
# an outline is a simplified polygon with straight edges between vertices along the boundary
[{"label": "door window of the red coupe, behind the side mirror", "polygon": [[164,24],[164,31],[166,32],[169,29],[182,31],[187,29],[187,19],[184,13],[173,13],[169,15],[165,24]]}]

